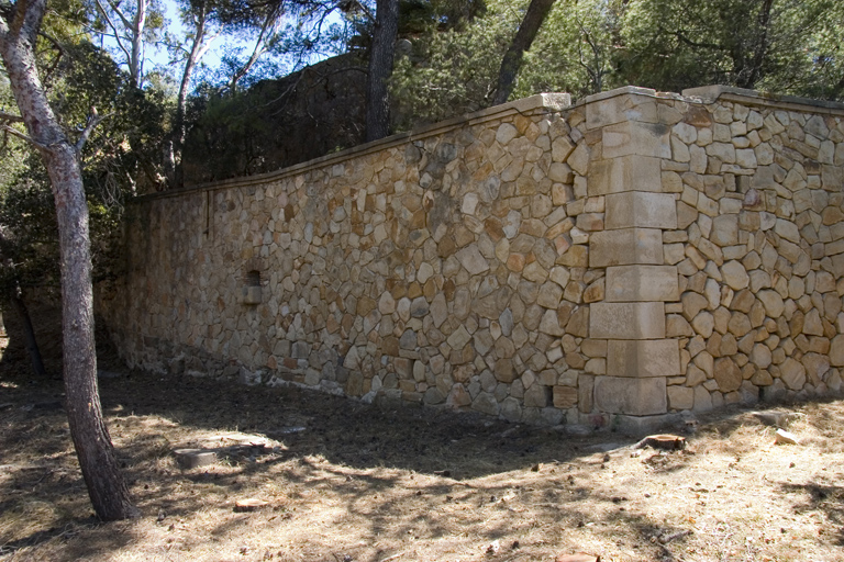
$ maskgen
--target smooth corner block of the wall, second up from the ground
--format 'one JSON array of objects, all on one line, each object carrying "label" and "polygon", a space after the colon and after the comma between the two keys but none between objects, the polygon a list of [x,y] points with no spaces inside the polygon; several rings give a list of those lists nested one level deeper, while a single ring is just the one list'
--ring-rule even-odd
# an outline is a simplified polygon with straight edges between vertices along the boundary
[{"label": "smooth corner block of the wall, second up from the ground", "polygon": [[675,376],[680,374],[680,347],[676,339],[611,339],[607,347],[610,376]]}]

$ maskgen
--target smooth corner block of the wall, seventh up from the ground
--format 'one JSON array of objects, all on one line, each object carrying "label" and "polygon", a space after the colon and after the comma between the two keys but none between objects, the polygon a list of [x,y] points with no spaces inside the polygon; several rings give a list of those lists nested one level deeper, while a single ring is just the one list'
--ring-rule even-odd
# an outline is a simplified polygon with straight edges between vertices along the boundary
[{"label": "smooth corner block of the wall, seventh up from the ground", "polygon": [[659,159],[630,155],[597,160],[592,162],[586,187],[590,196],[624,191],[659,192],[663,189]]}]

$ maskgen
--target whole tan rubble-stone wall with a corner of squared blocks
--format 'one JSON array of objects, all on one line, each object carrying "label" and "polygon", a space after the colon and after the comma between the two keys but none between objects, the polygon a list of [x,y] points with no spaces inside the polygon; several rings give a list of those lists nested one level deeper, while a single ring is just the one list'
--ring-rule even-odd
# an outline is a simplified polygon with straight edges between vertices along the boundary
[{"label": "whole tan rubble-stone wall with a corner of squared blocks", "polygon": [[839,393],[844,106],[543,94],[141,200],[132,366],[644,428]]}]

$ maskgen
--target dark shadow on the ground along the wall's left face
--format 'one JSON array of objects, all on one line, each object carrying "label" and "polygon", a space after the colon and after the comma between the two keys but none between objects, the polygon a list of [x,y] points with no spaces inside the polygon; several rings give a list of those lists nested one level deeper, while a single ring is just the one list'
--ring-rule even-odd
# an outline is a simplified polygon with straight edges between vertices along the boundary
[{"label": "dark shadow on the ground along the wall's left face", "polygon": [[598,442],[634,442],[611,432],[587,437],[510,424],[473,412],[381,409],[299,387],[267,389],[133,371],[101,380],[103,408],[158,415],[181,425],[236,428],[284,443],[288,456],[322,456],[358,469],[391,467],[456,479],[566,462]]}]

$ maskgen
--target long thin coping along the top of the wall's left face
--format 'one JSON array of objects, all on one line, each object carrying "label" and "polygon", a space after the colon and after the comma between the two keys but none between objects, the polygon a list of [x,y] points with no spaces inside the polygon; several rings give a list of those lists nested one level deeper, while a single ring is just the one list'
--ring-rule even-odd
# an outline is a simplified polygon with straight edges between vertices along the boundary
[{"label": "long thin coping along the top of the wall's left face", "polygon": [[420,140],[436,136],[462,126],[470,126],[479,123],[485,123],[496,119],[508,117],[515,114],[533,114],[537,111],[563,111],[571,106],[571,95],[568,93],[537,93],[530,98],[523,98],[509,103],[502,103],[501,105],[495,105],[485,110],[476,111],[457,117],[452,117],[432,125],[425,125],[423,127],[410,131],[408,133],[399,133],[396,135],[381,138],[379,140],[373,140],[363,145],[357,145],[345,150],[341,150],[334,154],[327,154],[312,160],[296,164],[280,170],[270,171],[266,173],[257,173],[255,176],[246,176],[241,178],[231,178],[227,180],[212,181],[207,183],[198,183],[196,186],[188,186],[181,189],[163,191],[159,193],[149,193],[136,198],[135,202],[149,201],[154,199],[167,199],[184,195],[187,193],[195,193],[201,191],[214,191],[219,189],[243,188],[248,186],[256,186],[266,183],[269,181],[277,181],[290,176],[297,176],[304,173],[314,168],[323,168],[330,165],[340,164],[351,158],[365,156],[371,153],[378,153],[402,144],[411,143],[413,140]]}]

